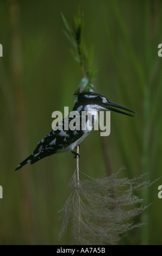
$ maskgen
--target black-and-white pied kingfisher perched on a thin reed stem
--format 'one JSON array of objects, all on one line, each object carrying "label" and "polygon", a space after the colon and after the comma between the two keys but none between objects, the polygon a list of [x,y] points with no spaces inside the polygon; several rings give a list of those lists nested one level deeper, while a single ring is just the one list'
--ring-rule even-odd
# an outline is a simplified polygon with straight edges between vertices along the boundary
[{"label": "black-and-white pied kingfisher perched on a thin reed stem", "polygon": [[[73,97],[75,101],[72,111],[79,113],[80,129],[65,129],[65,125],[67,125],[66,122],[70,124],[70,122],[74,119],[70,114],[68,114],[68,116],[58,124],[58,126],[49,132],[47,136],[41,139],[33,153],[23,162],[18,164],[15,170],[22,168],[29,162],[30,164],[33,164],[44,157],[53,155],[55,153],[71,152],[74,154],[75,158],[77,156],[79,157],[80,154],[74,151],[74,149],[77,147],[77,145],[80,145],[80,143],[89,135],[91,131],[91,129],[88,129],[88,118],[82,119],[83,112],[88,112],[91,114],[91,128],[95,124],[97,113],[99,111],[114,111],[124,115],[129,115],[130,117],[134,117],[134,115],[123,112],[119,109],[136,113],[129,108],[123,107],[108,100],[105,96],[96,92],[75,93],[73,94]],[[82,126],[83,120],[85,121],[84,126]],[[62,125],[62,130],[58,129],[60,124]]]}]

